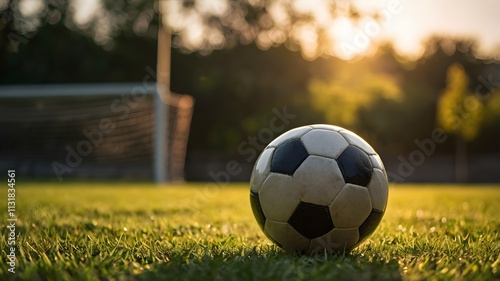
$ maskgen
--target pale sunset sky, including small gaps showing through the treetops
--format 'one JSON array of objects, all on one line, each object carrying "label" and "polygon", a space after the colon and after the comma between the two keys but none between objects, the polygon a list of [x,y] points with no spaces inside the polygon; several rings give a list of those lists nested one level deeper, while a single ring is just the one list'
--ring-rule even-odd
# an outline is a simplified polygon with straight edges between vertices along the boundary
[{"label": "pale sunset sky, including small gaps showing through the treetops", "polygon": [[[41,7],[41,0],[21,0],[22,9],[27,14],[36,13]],[[165,0],[178,3],[181,0]],[[200,2],[203,2],[201,0]],[[225,0],[206,0],[201,6],[206,9],[223,9]],[[278,0],[279,2],[281,0]],[[325,0],[295,0],[294,5],[300,9],[317,13],[318,18],[325,13],[321,3]],[[328,1],[328,0],[326,0]],[[347,3],[339,0],[338,3]],[[85,22],[95,15],[100,0],[73,0],[77,22]],[[178,6],[175,3],[173,6]],[[208,4],[207,4],[208,3]],[[328,22],[335,46],[332,53],[348,59],[355,54],[362,54],[373,49],[377,42],[391,41],[395,48],[409,57],[417,58],[423,52],[422,42],[433,34],[453,36],[456,38],[476,39],[478,52],[482,56],[496,56],[500,59],[500,1],[497,0],[355,0],[355,6],[365,12],[377,12],[382,15],[378,26],[373,21],[361,21],[354,26],[347,18],[337,18]],[[170,5],[172,7],[172,5]],[[179,22],[181,17],[170,17]],[[203,34],[195,24],[188,29],[188,37],[193,42]],[[307,30],[306,30],[307,31]],[[304,41],[310,34],[304,32]],[[311,41],[311,40],[309,40]],[[314,47],[314,46],[313,46]],[[307,48],[307,46],[306,46]],[[346,48],[348,51],[346,51]]]}]

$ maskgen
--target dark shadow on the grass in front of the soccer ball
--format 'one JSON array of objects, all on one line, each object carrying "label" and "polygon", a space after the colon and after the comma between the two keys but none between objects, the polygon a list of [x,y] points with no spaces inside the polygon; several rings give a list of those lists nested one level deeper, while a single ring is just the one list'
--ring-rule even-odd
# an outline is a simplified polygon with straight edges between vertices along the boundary
[{"label": "dark shadow on the grass in front of the soccer ball", "polygon": [[[267,249],[269,248],[269,249]],[[240,249],[241,250],[241,249]],[[362,254],[301,256],[277,247],[247,252],[181,254],[136,275],[138,280],[402,280],[396,260]]]}]

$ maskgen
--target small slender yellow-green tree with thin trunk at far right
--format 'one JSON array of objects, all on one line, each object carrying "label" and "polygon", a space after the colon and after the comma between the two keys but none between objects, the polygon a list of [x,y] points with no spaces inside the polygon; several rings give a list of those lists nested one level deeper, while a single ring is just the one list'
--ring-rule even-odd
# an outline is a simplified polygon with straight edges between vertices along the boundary
[{"label": "small slender yellow-green tree with thin trunk at far right", "polygon": [[467,142],[478,135],[483,121],[484,106],[469,91],[469,78],[460,64],[448,68],[446,88],[438,100],[437,122],[442,129],[455,135],[455,177],[467,181]]}]

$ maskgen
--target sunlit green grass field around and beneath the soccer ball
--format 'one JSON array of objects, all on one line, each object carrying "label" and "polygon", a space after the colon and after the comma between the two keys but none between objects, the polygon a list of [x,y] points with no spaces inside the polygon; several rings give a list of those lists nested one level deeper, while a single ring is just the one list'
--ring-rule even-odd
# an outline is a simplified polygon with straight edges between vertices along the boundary
[{"label": "sunlit green grass field around and beneath the soccer ball", "polygon": [[15,274],[0,194],[0,280],[500,280],[499,185],[392,185],[367,242],[312,257],[264,237],[246,185],[18,183],[16,192]]}]

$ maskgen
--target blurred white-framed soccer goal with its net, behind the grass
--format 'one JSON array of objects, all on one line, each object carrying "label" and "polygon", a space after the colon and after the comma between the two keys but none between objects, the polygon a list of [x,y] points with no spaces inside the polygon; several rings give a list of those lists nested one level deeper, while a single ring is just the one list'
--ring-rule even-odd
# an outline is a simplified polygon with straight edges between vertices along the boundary
[{"label": "blurred white-framed soccer goal with its net, behind the grass", "polygon": [[193,104],[160,99],[156,84],[3,86],[0,167],[59,181],[183,180]]}]

